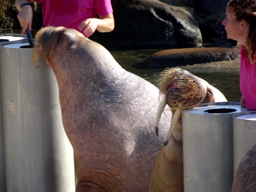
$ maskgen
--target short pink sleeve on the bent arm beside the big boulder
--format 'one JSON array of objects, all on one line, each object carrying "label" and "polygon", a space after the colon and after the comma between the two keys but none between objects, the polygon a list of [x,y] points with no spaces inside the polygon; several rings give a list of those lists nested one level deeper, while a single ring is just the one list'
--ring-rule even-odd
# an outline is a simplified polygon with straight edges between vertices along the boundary
[{"label": "short pink sleeve on the bent arm beside the big boulder", "polygon": [[99,16],[109,15],[113,12],[110,0],[95,0],[94,7]]}]

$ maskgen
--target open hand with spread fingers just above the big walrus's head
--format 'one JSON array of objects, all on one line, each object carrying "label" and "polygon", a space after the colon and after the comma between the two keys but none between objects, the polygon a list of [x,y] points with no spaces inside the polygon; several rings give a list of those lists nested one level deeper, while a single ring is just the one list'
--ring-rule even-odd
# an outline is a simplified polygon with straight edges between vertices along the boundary
[{"label": "open hand with spread fingers just above the big walrus's head", "polygon": [[83,21],[77,28],[84,33],[87,37],[92,35],[94,31],[97,29],[98,20],[96,18],[86,19]]}]

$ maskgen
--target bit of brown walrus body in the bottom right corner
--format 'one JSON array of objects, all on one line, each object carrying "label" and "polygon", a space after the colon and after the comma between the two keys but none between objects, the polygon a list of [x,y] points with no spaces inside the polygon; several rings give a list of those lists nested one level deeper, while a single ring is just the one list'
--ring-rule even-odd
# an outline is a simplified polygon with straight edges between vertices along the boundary
[{"label": "bit of brown walrus body in the bottom right corner", "polygon": [[240,162],[234,175],[231,192],[256,191],[256,145]]}]

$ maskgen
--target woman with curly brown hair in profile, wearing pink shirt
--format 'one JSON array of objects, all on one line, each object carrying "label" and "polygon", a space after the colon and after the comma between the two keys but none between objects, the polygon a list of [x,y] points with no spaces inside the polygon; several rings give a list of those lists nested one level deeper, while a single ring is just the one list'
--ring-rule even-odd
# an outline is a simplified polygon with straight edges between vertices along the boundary
[{"label": "woman with curly brown hair in profile, wearing pink shirt", "polygon": [[230,0],[222,25],[241,47],[240,105],[256,110],[256,0]]}]

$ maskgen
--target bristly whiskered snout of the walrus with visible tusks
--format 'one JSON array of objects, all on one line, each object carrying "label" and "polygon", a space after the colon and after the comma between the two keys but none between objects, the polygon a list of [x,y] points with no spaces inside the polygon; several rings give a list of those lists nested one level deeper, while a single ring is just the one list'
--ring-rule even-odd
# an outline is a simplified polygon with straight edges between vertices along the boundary
[{"label": "bristly whiskered snout of the walrus with visible tusks", "polygon": [[207,91],[204,81],[179,68],[168,68],[161,72],[158,86],[171,109],[196,106],[205,99]]}]

